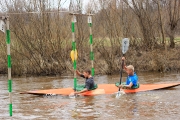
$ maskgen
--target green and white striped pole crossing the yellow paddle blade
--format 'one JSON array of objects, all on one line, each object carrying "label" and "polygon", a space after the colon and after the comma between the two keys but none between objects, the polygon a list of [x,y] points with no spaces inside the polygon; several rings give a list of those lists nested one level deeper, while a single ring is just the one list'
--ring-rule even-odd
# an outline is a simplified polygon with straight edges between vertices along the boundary
[{"label": "green and white striped pole crossing the yellow paddle blade", "polygon": [[75,41],[75,22],[76,22],[76,16],[72,15],[72,50],[74,51],[74,61],[73,61],[73,68],[74,68],[74,89],[76,89],[77,86],[77,78],[76,78],[76,69],[77,69],[77,58],[76,57],[76,41]]}]

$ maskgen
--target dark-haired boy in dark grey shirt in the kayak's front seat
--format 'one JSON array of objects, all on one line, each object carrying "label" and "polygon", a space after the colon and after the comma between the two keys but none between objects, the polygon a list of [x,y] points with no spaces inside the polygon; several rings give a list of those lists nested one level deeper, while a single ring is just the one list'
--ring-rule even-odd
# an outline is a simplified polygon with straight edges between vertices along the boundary
[{"label": "dark-haired boy in dark grey shirt in the kayak's front seat", "polygon": [[89,91],[95,87],[94,78],[91,75],[91,70],[87,69],[83,72],[83,74],[77,70],[76,74],[80,77],[85,78],[86,81],[85,81],[85,88],[81,91],[74,92],[74,94],[83,93],[83,92]]}]

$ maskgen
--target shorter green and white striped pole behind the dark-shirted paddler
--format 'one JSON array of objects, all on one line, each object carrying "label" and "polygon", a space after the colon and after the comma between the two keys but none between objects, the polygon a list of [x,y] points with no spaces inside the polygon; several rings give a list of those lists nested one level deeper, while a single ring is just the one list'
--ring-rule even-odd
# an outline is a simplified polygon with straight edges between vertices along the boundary
[{"label": "shorter green and white striped pole behind the dark-shirted paddler", "polygon": [[93,52],[93,36],[92,36],[92,15],[88,16],[88,24],[89,24],[89,42],[90,42],[90,59],[91,59],[91,71],[92,71],[92,76],[94,76],[94,52]]}]

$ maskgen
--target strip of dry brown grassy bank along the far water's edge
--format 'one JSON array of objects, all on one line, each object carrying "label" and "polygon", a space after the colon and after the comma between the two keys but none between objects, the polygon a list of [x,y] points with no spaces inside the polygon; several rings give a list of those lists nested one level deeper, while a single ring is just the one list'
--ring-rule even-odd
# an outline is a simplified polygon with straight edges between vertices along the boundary
[{"label": "strip of dry brown grassy bank along the far water's edge", "polygon": [[[167,52],[161,49],[152,51],[141,51],[130,49],[126,54],[126,64],[132,64],[138,72],[155,71],[155,72],[180,72],[180,47],[168,49]],[[121,53],[114,55],[114,59],[102,57],[102,53],[95,52],[95,74],[113,75],[119,74],[121,69]],[[47,75],[69,75],[73,74],[73,65],[70,57],[63,61],[49,61],[42,60],[35,56],[38,60],[39,66],[34,66],[35,61],[28,61],[22,59],[19,61],[18,55],[16,57],[13,52],[12,55],[12,74],[14,76],[47,76]],[[48,58],[49,59],[49,58]],[[109,62],[110,61],[110,62]],[[36,67],[36,68],[35,68]],[[83,71],[91,68],[89,55],[87,54],[83,59],[79,57],[77,61],[77,69]],[[6,59],[0,60],[0,74],[7,74]]]}]

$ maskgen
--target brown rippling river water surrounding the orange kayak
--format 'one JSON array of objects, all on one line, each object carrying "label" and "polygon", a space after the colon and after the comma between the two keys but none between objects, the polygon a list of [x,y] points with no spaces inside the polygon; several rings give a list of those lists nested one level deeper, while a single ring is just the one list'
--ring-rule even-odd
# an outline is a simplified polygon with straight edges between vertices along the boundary
[{"label": "brown rippling river water surrounding the orange kayak", "polygon": [[[178,73],[138,75],[141,84],[180,82]],[[118,81],[119,76],[95,77],[98,84],[112,84]],[[79,83],[84,83],[84,80],[79,78]],[[13,116],[9,117],[7,77],[0,76],[0,120],[180,120],[180,86],[125,94],[119,99],[115,94],[80,96],[75,99],[68,96],[19,94],[28,90],[70,86],[73,86],[72,76],[13,78]]]}]

